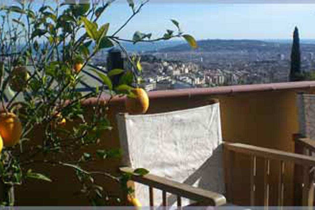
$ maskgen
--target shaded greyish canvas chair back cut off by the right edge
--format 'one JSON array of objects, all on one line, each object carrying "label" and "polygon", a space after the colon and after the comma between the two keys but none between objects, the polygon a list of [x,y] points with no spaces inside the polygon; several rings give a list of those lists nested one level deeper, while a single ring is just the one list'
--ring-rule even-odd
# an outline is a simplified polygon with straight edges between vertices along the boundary
[{"label": "shaded greyish canvas chair back cut off by the right edge", "polygon": [[315,95],[297,94],[299,133],[315,140]]}]

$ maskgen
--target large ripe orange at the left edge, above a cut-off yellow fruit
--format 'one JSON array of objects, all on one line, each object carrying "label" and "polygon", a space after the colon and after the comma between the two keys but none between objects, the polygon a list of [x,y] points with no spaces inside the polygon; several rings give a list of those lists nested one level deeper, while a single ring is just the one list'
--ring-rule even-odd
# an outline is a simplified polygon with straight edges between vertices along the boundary
[{"label": "large ripe orange at the left edge, above a cut-off yellow fruit", "polygon": [[13,113],[0,114],[0,135],[5,147],[11,147],[19,143],[22,135],[22,124]]}]

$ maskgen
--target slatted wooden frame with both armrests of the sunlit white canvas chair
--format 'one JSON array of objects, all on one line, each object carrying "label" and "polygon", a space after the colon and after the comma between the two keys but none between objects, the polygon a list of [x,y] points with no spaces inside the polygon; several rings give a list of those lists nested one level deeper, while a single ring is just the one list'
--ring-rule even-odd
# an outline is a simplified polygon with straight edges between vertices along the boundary
[{"label": "slatted wooden frame with both armrests of the sunlit white canvas chair", "polygon": [[[295,139],[296,142],[302,144],[306,149],[313,149],[315,152],[315,141],[310,139]],[[315,157],[305,154],[296,154],[291,152],[284,152],[281,150],[269,149],[253,145],[241,143],[228,143],[223,142],[224,158],[225,158],[225,175],[226,175],[226,196],[209,190],[203,190],[187,184],[175,182],[163,177],[153,174],[146,174],[144,176],[137,176],[133,174],[131,179],[135,182],[148,185],[148,192],[150,194],[150,206],[153,203],[153,188],[162,190],[163,206],[167,206],[166,193],[177,195],[177,204],[181,206],[181,197],[192,199],[201,206],[221,206],[226,204],[226,200],[233,203],[232,184],[233,183],[233,170],[232,160],[236,153],[246,154],[250,156],[250,205],[255,205],[255,176],[256,176],[256,158],[263,158],[265,160],[264,167],[264,206],[269,205],[269,175],[270,175],[270,161],[279,161],[279,182],[278,182],[278,206],[284,205],[284,168],[285,164],[292,162],[299,165],[302,170],[302,206],[312,206],[314,201],[314,176],[310,175],[310,167],[315,167]],[[133,173],[133,169],[129,167],[122,167],[120,171],[123,173]],[[227,198],[227,199],[226,199]]]}]

